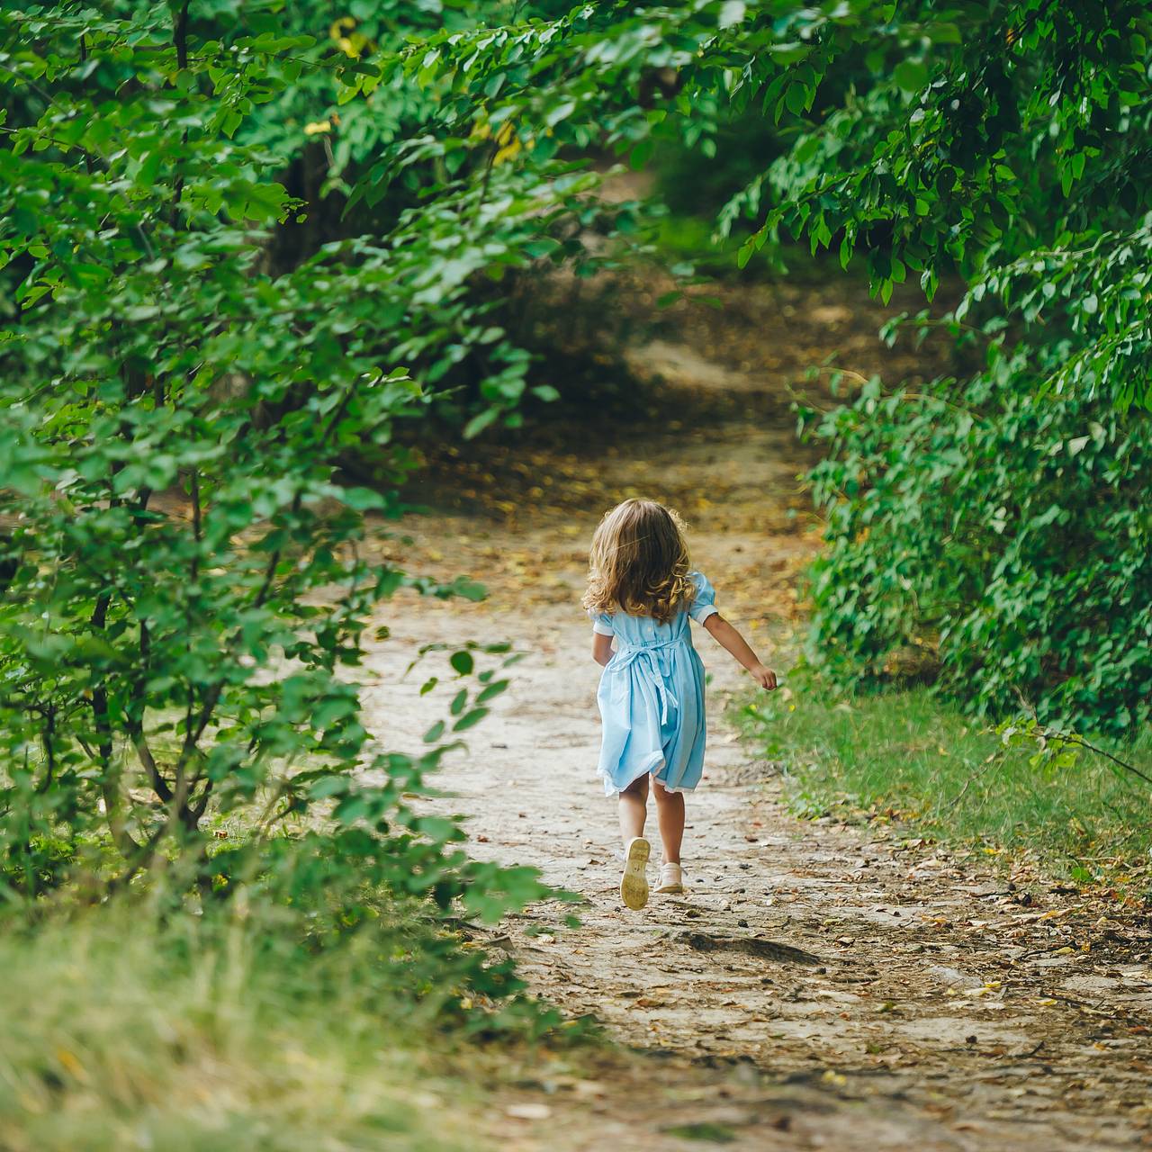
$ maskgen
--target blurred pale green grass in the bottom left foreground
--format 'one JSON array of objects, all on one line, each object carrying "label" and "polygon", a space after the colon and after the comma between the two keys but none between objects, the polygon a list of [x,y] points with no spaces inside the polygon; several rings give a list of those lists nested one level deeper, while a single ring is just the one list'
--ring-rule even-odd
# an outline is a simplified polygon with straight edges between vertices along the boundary
[{"label": "blurred pale green grass in the bottom left foreground", "polygon": [[217,924],[126,901],[6,926],[0,1147],[482,1146],[446,1039],[389,990],[389,939],[316,954],[244,904]]}]

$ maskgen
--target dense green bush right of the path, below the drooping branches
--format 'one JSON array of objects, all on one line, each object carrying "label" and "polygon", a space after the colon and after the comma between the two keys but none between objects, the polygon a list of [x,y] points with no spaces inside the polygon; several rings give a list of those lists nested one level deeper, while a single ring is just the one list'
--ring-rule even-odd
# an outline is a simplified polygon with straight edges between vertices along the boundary
[{"label": "dense green bush right of the path, below the drooping branches", "polygon": [[967,385],[872,380],[808,416],[829,452],[810,655],[841,683],[919,665],[968,708],[1119,735],[1152,708],[1152,423],[1028,379],[993,348]]}]

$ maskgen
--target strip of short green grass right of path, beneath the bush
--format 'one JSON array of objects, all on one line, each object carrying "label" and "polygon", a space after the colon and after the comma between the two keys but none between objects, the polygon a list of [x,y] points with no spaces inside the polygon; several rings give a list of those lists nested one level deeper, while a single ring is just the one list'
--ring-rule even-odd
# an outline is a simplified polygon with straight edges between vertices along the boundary
[{"label": "strip of short green grass right of path, beneath the bush", "polygon": [[[1152,895],[1152,788],[1100,756],[1006,745],[924,689],[842,697],[816,681],[737,705],[783,765],[799,814],[899,819],[990,854],[1032,850],[1056,874]],[[1152,775],[1152,734],[1112,749]]]}]

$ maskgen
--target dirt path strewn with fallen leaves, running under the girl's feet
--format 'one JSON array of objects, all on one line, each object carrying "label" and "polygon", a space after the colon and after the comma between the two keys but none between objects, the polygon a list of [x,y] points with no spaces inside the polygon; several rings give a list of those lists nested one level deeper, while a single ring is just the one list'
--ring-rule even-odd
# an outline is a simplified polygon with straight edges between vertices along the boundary
[{"label": "dirt path strewn with fallen leaves, running under the girl's feet", "polygon": [[[447,761],[448,806],[469,814],[476,855],[536,865],[585,897],[578,929],[548,902],[493,935],[533,991],[622,1045],[592,1071],[541,1055],[501,1090],[487,1135],[550,1152],[1152,1146],[1146,925],[1100,922],[1075,893],[1025,890],[899,829],[796,820],[773,767],[723,719],[746,681],[698,630],[713,679],[689,892],[642,914],[620,905],[615,804],[593,775],[598,669],[577,605],[586,543],[613,500],[669,500],[726,615],[768,652],[788,634],[814,540],[789,518],[804,507],[803,461],[781,384],[838,323],[874,331],[876,317],[814,291],[790,317],[779,293],[764,308],[771,369],[746,353],[725,363],[699,341],[632,351],[659,365],[679,427],[574,437],[536,460],[492,449],[461,461],[455,484],[441,475],[447,511],[404,524],[409,564],[470,571],[493,596],[395,601],[370,660],[370,714],[389,746],[418,746],[452,689],[420,697],[424,676],[402,676],[417,646],[510,639],[528,653],[469,752]],[[887,355],[847,336],[840,347],[865,374]]]}]

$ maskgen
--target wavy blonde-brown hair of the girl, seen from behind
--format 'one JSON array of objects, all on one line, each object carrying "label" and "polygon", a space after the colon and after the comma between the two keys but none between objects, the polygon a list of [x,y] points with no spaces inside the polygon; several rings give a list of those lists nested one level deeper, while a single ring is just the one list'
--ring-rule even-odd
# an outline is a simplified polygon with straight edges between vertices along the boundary
[{"label": "wavy blonde-brown hair of the girl, seen from behind", "polygon": [[696,596],[684,522],[655,500],[626,500],[604,514],[589,554],[583,605],[667,623]]}]

